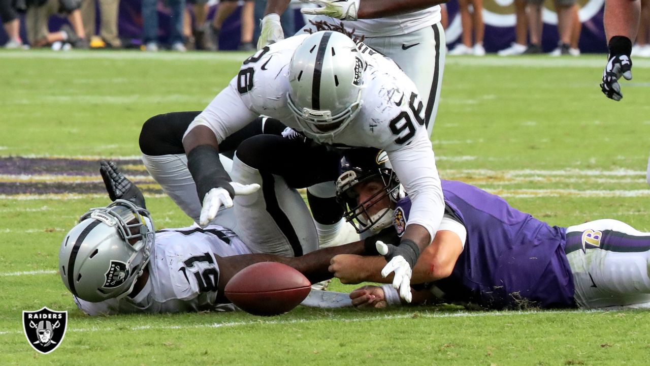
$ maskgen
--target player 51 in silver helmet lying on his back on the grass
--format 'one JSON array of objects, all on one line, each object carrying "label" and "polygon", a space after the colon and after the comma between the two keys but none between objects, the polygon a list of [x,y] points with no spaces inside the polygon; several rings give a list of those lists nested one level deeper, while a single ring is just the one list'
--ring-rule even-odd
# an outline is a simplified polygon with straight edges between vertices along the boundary
[{"label": "player 51 in silver helmet lying on his back on the grass", "polygon": [[230,310],[223,289],[250,264],[282,262],[315,282],[331,278],[333,255],[364,253],[357,242],[296,259],[253,254],[219,225],[155,231],[135,184],[112,162],[100,172],[113,202],[81,216],[59,253],[61,279],[88,315]]}]

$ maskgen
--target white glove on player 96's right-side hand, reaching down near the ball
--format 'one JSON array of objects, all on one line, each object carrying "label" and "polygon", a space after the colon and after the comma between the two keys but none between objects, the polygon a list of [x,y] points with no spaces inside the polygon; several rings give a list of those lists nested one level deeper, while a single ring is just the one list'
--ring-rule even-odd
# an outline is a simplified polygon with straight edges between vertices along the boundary
[{"label": "white glove on player 96's right-side hand, reaching down near the ball", "polygon": [[404,239],[400,246],[385,244],[381,240],[375,243],[377,251],[388,261],[382,269],[382,277],[395,272],[393,288],[400,292],[400,298],[411,302],[411,275],[413,266],[420,255],[420,248],[413,240]]}]

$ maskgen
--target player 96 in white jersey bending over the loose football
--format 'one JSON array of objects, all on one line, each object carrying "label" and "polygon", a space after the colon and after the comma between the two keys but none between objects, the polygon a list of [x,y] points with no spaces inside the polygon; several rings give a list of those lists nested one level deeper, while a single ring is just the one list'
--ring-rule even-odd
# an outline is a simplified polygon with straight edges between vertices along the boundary
[{"label": "player 96 in white jersey bending over the loose football", "polygon": [[[280,120],[293,132],[290,138],[257,135],[244,141],[230,177],[218,146],[259,115]],[[302,221],[306,208],[292,210],[304,203],[287,187],[324,184],[312,195],[333,197],[341,151],[354,147],[384,149],[413,202],[400,246],[387,264],[408,300],[411,268],[430,244],[444,210],[424,106],[393,61],[343,33],[319,31],[265,46],[192,121],[183,150],[202,203],[200,225],[237,196],[236,216],[255,217],[257,223],[239,229],[244,242],[300,255],[301,238],[291,234],[292,221]],[[277,186],[276,177],[286,185]],[[340,214],[338,207],[332,210]]]}]

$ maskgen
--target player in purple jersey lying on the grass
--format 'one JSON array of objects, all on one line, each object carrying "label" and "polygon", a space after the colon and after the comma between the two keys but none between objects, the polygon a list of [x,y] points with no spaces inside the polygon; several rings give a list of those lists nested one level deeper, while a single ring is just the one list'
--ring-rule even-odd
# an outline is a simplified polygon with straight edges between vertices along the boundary
[{"label": "player in purple jersey lying on the grass", "polygon": [[[350,156],[337,181],[346,218],[367,239],[395,242],[404,233],[411,202],[387,162]],[[650,232],[615,219],[551,226],[504,199],[463,182],[442,181],[445,216],[432,244],[413,268],[413,303],[473,303],[484,309],[650,307]],[[390,209],[390,210],[387,210]],[[390,219],[386,219],[389,217]],[[378,240],[378,241],[377,241]],[[369,246],[367,246],[369,248]],[[369,251],[368,251],[369,252]],[[338,255],[330,270],[343,283],[385,282],[382,257]],[[362,287],[359,306],[402,303],[389,286]]]}]

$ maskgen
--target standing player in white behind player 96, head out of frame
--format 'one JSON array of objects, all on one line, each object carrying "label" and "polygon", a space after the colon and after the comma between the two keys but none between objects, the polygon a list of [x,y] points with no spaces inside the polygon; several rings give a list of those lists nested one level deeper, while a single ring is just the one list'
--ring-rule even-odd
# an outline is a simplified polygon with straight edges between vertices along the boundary
[{"label": "standing player in white behind player 96, head out of frame", "polygon": [[[367,46],[390,57],[404,70],[424,102],[424,122],[431,135],[447,53],[439,4],[447,0],[302,1],[321,6],[301,9],[304,14],[314,16],[313,23],[326,22],[354,29],[355,35],[363,36]],[[267,1],[257,49],[284,38],[279,14],[285,12],[289,3],[289,0]],[[305,25],[296,35],[314,31],[313,23]]]}]

